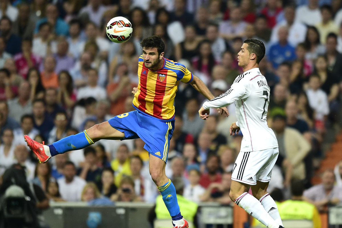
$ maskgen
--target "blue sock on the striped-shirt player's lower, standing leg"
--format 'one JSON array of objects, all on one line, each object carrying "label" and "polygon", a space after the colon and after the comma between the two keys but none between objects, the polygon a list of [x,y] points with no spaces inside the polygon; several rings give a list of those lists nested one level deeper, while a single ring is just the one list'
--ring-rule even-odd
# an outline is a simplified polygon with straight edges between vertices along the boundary
[{"label": "blue sock on the striped-shirt player's lower, standing leg", "polygon": [[158,187],[158,190],[163,197],[163,201],[172,217],[172,220],[176,221],[182,219],[183,216],[181,215],[181,211],[177,202],[176,189],[174,188],[171,180],[169,179],[168,183]]}]

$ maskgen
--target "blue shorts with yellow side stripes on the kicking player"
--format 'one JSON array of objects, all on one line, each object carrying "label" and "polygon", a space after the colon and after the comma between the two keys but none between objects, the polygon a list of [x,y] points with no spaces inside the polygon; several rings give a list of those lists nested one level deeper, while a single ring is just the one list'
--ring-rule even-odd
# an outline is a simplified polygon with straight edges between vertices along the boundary
[{"label": "blue shorts with yellow side stripes on the kicking player", "polygon": [[145,142],[144,149],[166,163],[174,120],[162,122],[134,110],[115,116],[108,122],[110,126],[125,134],[122,140],[141,138]]}]

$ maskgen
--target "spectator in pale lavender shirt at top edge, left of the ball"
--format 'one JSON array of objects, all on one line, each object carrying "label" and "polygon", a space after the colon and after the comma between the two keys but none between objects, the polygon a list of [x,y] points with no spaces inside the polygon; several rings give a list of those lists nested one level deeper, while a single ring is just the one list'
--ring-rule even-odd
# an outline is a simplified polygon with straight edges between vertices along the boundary
[{"label": "spectator in pale lavender shirt at top edge, left of the ball", "polygon": [[100,26],[102,15],[106,10],[107,7],[102,4],[101,0],[90,0],[88,1],[88,5],[83,6],[83,8],[80,10],[79,15],[87,14],[91,22],[95,23],[97,26]]}]

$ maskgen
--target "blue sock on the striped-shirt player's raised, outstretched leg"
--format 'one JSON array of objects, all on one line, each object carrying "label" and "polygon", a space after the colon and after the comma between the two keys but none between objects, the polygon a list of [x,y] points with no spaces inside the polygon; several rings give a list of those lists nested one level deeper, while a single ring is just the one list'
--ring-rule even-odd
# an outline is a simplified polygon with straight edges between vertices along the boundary
[{"label": "blue sock on the striped-shirt player's raised, outstretched leg", "polygon": [[52,145],[48,146],[51,156],[55,156],[59,153],[65,153],[70,150],[83,149],[92,144],[94,144],[93,140],[87,134],[87,130],[84,130],[76,135],[70,135],[68,137],[62,138],[61,140],[58,140],[57,142],[54,142]]}]

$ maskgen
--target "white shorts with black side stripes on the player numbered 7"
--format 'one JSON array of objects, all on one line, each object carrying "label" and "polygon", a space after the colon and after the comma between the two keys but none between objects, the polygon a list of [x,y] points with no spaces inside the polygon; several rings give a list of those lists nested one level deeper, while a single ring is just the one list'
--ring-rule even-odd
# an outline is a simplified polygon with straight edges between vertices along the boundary
[{"label": "white shorts with black side stripes on the player numbered 7", "polygon": [[232,180],[249,185],[257,184],[257,180],[269,182],[278,154],[278,147],[260,151],[239,152],[234,164]]}]

